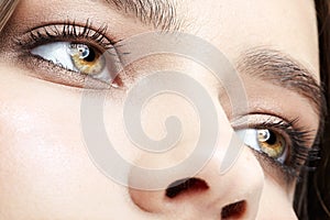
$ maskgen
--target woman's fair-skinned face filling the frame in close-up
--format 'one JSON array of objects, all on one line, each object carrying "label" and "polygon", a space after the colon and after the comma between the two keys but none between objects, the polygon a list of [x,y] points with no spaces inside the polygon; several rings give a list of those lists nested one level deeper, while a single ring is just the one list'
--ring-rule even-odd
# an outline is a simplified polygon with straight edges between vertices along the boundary
[{"label": "woman's fair-skinned face filling the frame in close-up", "polygon": [[[314,1],[142,2],[22,0],[18,6],[0,34],[1,219],[295,219],[296,175],[319,123]],[[165,31],[156,33],[158,41],[136,37],[153,36],[156,30]],[[194,36],[180,45],[190,43],[194,48],[191,43],[198,47],[198,42],[208,42],[223,54],[240,76],[244,100],[238,95],[242,101],[235,102],[228,95],[228,89],[237,89],[237,80],[230,81],[237,79],[234,72],[226,72],[220,81],[208,66],[191,58],[210,61],[213,54],[208,50],[190,58],[161,53],[172,45],[163,35],[174,30]],[[99,114],[87,111],[81,117],[86,109],[81,103],[89,97],[87,103],[92,106],[97,103],[92,100],[102,97],[99,86],[105,86],[105,78],[112,81],[102,74],[111,75],[125,55],[151,47],[160,53],[143,55],[121,69],[101,102],[107,138],[131,166],[127,170],[111,160],[107,165],[125,184],[105,172],[92,155],[101,143],[97,140],[102,139],[95,132],[98,127],[90,125]],[[219,63],[228,69],[226,62]],[[180,91],[185,80],[172,75],[158,78],[154,88],[163,92],[143,100],[142,110],[136,108],[143,132],[155,143],[170,133],[164,127],[166,118],[180,120],[180,139],[170,150],[139,148],[128,136],[134,128],[124,127],[130,117],[123,113],[125,100],[135,97],[130,102],[134,107],[142,97],[135,90],[130,94],[131,89],[142,79],[146,79],[145,88],[153,87],[152,77],[161,77],[157,72],[164,69],[194,79],[217,112],[217,142],[201,145],[211,153],[206,153],[202,166],[194,167],[198,164],[194,160],[202,157],[204,151],[194,157],[194,178],[179,165],[191,157],[199,135],[212,132],[209,124],[201,127],[200,114],[212,116],[213,110],[198,112],[194,101],[162,87],[163,82],[175,85]],[[87,80],[91,84],[82,88]],[[246,106],[238,105],[243,102]],[[233,132],[245,132],[245,145],[221,173],[227,150],[238,145],[231,144]],[[162,179],[139,172],[133,177],[132,167],[161,173],[173,167],[173,172],[161,175]],[[151,187],[139,187],[134,179]]]}]

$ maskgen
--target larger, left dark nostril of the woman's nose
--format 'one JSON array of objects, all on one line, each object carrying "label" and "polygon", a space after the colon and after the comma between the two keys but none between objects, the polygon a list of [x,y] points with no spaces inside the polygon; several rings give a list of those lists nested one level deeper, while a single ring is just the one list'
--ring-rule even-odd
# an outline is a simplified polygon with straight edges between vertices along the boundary
[{"label": "larger, left dark nostril of the woman's nose", "polygon": [[166,189],[166,197],[174,198],[182,194],[199,193],[207,190],[209,186],[200,178],[184,178],[172,183]]}]

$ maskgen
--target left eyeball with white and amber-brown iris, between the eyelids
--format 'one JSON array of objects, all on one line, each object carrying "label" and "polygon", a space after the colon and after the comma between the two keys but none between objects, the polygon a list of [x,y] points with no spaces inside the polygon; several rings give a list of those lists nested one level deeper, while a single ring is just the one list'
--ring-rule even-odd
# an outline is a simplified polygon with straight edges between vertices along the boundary
[{"label": "left eyeball with white and amber-brown iris, between the eyelids", "polygon": [[[87,75],[92,78],[111,82],[116,86],[116,64],[109,64],[107,52],[84,43],[54,42],[36,46],[31,54],[54,63],[68,70]],[[118,85],[117,85],[118,86]]]}]

